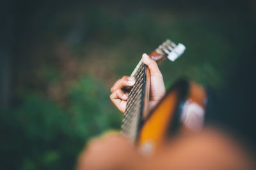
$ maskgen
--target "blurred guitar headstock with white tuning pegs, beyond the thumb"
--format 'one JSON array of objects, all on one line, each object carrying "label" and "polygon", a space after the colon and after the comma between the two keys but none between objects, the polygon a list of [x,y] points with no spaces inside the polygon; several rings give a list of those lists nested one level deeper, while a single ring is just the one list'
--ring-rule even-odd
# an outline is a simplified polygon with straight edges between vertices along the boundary
[{"label": "blurred guitar headstock with white tuning pegs, beyond the thumb", "polygon": [[154,50],[149,56],[155,61],[161,61],[165,58],[170,59],[171,61],[175,61],[175,59],[179,58],[181,54],[183,54],[186,47],[179,43],[176,45],[170,40],[166,40],[159,47]]}]

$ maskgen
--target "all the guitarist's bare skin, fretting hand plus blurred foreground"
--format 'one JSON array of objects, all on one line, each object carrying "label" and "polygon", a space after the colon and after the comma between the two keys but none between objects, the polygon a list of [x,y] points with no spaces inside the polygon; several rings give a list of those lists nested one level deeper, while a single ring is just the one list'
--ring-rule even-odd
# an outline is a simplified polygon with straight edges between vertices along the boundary
[{"label": "all the guitarist's bare skin, fretting hand plus blurred foreground", "polygon": [[[156,61],[142,56],[150,70],[150,108],[165,94],[163,76]],[[127,93],[134,78],[124,76],[111,88],[111,101],[125,112]],[[134,144],[119,134],[102,135],[90,141],[81,152],[77,170],[84,169],[256,169],[253,157],[237,139],[216,127],[195,134],[180,133],[152,157],[140,153]]]}]

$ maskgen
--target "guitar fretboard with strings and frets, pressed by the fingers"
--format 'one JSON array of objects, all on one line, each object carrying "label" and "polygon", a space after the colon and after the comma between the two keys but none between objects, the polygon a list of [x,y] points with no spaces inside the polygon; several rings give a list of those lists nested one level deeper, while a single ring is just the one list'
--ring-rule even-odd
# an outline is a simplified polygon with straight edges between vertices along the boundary
[{"label": "guitar fretboard with strings and frets, pressed by the fingers", "polygon": [[143,112],[143,93],[146,81],[145,65],[142,60],[140,60],[131,76],[135,78],[135,84],[129,89],[121,132],[132,141],[135,141],[138,135],[140,117]]}]

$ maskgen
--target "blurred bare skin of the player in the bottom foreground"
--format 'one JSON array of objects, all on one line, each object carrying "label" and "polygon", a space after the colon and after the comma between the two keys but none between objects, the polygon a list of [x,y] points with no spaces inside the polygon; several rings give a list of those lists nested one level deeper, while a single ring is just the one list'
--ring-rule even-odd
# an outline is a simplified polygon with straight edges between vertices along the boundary
[{"label": "blurred bare skin of the player in the bottom foreground", "polygon": [[180,135],[152,157],[143,157],[122,135],[91,141],[77,170],[85,169],[255,169],[253,159],[231,136],[214,128]]}]

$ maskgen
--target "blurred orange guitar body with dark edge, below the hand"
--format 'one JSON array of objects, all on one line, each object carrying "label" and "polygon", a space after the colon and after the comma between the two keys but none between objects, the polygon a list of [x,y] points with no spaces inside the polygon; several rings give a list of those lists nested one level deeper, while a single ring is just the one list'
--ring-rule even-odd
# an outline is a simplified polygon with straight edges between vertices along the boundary
[{"label": "blurred orange guitar body with dark edge, below the hand", "polygon": [[196,132],[204,122],[205,89],[195,82],[180,80],[151,111],[141,119],[137,146],[154,153],[180,131]]}]

